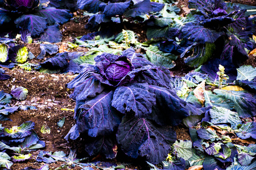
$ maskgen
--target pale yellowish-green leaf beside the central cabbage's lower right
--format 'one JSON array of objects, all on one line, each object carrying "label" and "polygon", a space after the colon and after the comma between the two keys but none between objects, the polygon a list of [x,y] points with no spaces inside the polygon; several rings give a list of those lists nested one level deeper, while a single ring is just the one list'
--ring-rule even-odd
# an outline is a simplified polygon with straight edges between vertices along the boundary
[{"label": "pale yellowish-green leaf beside the central cabbage's lower right", "polygon": [[174,152],[176,153],[177,157],[183,158],[184,160],[188,160],[192,157],[192,142],[191,141],[182,141],[179,140],[175,141],[174,145]]}]

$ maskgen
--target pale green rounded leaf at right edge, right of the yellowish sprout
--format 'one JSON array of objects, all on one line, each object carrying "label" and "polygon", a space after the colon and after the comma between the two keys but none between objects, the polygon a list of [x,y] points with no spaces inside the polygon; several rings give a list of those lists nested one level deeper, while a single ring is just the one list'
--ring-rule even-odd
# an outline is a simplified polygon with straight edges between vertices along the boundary
[{"label": "pale green rounded leaf at right edge, right of the yellowish sprout", "polygon": [[243,65],[237,69],[237,80],[253,80],[256,77],[256,68]]}]

